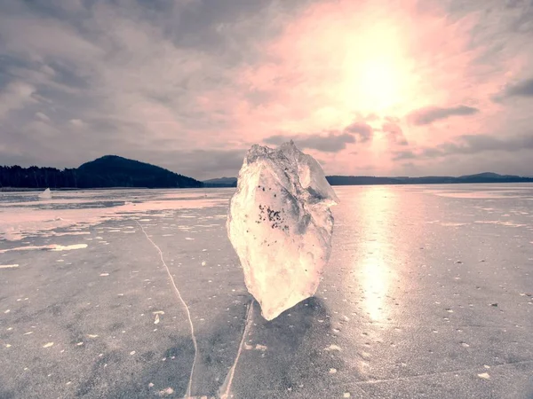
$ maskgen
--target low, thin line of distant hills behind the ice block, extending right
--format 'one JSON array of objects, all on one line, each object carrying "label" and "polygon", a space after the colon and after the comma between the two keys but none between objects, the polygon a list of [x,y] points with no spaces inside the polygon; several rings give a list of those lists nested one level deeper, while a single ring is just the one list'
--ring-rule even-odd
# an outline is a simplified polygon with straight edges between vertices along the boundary
[{"label": "low, thin line of distant hills behind the ice block, extending right", "polygon": [[[461,183],[522,183],[533,182],[533,177],[498,175],[484,172],[466,176],[424,176],[424,177],[378,177],[378,176],[326,176],[331,185],[371,185],[371,184],[461,184]],[[206,187],[236,187],[236,177],[221,177],[205,180]]]}]

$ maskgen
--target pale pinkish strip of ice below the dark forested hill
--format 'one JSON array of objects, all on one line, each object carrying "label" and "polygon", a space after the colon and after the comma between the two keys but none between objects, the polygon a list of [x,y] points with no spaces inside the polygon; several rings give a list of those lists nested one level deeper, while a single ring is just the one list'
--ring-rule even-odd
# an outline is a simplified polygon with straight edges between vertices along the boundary
[{"label": "pale pinkish strip of ice below the dark forested hill", "polygon": [[73,230],[73,226],[88,227],[150,211],[214,207],[226,202],[219,195],[211,194],[206,199],[203,193],[192,196],[192,192],[195,190],[68,191],[38,201],[32,192],[4,193],[0,197],[0,239],[14,241],[35,234],[57,235],[54,232],[57,229]]}]

